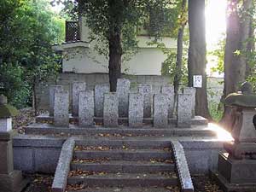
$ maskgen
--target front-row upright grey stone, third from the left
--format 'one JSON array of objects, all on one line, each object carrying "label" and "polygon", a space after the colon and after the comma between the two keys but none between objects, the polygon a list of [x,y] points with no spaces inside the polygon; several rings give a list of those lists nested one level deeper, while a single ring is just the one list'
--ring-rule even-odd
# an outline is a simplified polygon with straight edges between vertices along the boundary
[{"label": "front-row upright grey stone, third from the left", "polygon": [[119,125],[119,98],[117,93],[104,94],[103,124],[105,127]]}]

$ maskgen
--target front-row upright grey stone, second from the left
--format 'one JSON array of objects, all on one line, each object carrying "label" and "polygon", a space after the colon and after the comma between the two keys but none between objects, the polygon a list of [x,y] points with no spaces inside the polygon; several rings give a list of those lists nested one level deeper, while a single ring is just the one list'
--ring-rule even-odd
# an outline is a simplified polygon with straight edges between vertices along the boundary
[{"label": "front-row upright grey stone, second from the left", "polygon": [[94,124],[94,93],[93,90],[79,93],[79,126]]}]

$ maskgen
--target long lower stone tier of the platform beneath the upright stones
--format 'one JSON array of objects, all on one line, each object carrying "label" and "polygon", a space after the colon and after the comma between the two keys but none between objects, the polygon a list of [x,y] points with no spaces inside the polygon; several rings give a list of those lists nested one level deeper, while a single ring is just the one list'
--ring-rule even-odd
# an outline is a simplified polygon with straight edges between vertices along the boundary
[{"label": "long lower stone tier of the platform beneath the upright stones", "polygon": [[56,127],[52,124],[32,124],[25,128],[26,134],[33,135],[83,135],[99,136],[99,134],[108,134],[108,137],[216,137],[217,132],[213,131],[207,125],[195,125],[191,128],[154,128],[152,126],[143,126],[141,128],[131,128],[120,125],[116,128],[102,127],[79,127],[78,125],[69,125],[69,127]]}]

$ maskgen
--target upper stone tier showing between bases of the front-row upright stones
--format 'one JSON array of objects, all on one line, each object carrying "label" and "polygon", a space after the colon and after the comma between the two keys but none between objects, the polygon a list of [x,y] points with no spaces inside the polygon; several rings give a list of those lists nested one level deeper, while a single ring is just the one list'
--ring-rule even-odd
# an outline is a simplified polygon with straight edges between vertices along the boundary
[{"label": "upper stone tier showing between bases of the front-row upright stones", "polygon": [[[37,123],[45,123],[45,122],[53,122],[53,117],[49,116],[48,113],[41,114],[36,118]],[[71,114],[69,115],[69,121],[70,123],[78,122],[78,117],[73,117]],[[96,124],[103,124],[103,118],[94,118],[94,121]],[[168,124],[170,127],[175,127],[177,123],[176,118],[170,118],[168,119]],[[128,125],[128,118],[119,118],[119,125]],[[143,118],[143,124],[145,125],[153,125],[153,118]],[[207,125],[208,120],[201,117],[201,116],[195,116],[195,118],[191,119],[191,125]]]}]

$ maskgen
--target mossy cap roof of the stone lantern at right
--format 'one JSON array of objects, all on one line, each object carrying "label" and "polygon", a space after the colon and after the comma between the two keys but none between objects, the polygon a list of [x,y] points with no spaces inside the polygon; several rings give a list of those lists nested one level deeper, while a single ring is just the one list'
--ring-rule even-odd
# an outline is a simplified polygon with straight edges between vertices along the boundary
[{"label": "mossy cap roof of the stone lantern at right", "polygon": [[224,104],[228,106],[237,106],[244,108],[256,108],[256,95],[232,93],[224,100]]}]

